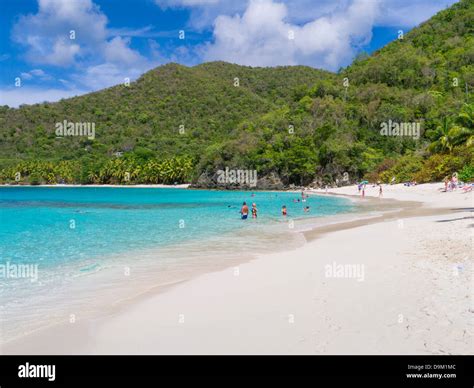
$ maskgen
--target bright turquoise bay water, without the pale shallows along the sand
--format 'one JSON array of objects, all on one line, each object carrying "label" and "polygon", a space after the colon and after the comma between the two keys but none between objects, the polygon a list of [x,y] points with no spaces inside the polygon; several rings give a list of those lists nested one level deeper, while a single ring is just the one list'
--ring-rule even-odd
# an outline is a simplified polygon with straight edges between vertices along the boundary
[{"label": "bright turquoise bay water, without the pale shallows along the sand", "polygon": [[[258,222],[346,212],[350,203],[295,193],[145,188],[0,189],[0,252],[3,259],[57,266],[136,248],[177,244],[248,226],[239,210],[255,202]],[[302,208],[310,206],[310,213]]]}]

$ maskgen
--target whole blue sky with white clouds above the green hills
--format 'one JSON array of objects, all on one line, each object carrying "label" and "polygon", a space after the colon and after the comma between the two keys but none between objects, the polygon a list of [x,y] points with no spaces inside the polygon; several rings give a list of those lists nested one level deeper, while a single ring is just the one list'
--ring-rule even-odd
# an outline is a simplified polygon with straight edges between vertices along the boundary
[{"label": "whole blue sky with white clouds above the green hills", "polygon": [[84,94],[168,62],[337,71],[454,2],[0,0],[0,105]]}]

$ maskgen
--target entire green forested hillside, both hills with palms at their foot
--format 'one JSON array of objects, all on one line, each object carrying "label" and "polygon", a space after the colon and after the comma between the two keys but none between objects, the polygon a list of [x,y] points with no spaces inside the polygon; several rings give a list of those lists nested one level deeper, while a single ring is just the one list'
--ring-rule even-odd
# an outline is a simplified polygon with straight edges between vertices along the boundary
[{"label": "entire green forested hillside, both hills with palms at their foot", "polygon": [[[461,1],[338,74],[169,64],[130,86],[1,107],[0,179],[173,183],[229,167],[285,184],[472,180],[473,21]],[[95,139],[56,138],[63,120],[94,122]],[[421,136],[383,136],[387,122],[419,123]]]}]

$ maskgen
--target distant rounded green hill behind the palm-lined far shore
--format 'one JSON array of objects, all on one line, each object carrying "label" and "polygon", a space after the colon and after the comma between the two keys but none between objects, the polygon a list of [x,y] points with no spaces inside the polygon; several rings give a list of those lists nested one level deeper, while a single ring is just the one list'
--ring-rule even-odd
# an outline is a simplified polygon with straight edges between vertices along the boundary
[{"label": "distant rounded green hill behind the palm-lined far shore", "polygon": [[[325,74],[303,67],[291,70],[284,72],[278,85],[271,75],[256,78],[250,68],[235,69],[222,63],[195,68],[168,64],[144,74],[129,87],[119,85],[58,103],[2,108],[1,152],[3,158],[54,155],[74,159],[84,156],[84,147],[90,146],[89,154],[95,156],[137,147],[168,156],[184,151],[198,154],[203,146],[227,136],[243,117],[275,109],[278,101],[274,97],[280,102],[285,97],[283,86],[292,93],[291,88],[310,84]],[[246,78],[247,74],[250,77]],[[236,76],[242,79],[239,87],[234,86]],[[55,123],[63,120],[94,122],[96,139],[56,139]],[[179,131],[181,125],[184,133]]]}]

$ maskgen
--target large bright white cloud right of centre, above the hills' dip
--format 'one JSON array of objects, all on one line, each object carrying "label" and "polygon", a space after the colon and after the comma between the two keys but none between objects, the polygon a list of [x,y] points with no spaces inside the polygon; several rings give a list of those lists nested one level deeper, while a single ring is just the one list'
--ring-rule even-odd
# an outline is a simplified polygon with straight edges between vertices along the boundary
[{"label": "large bright white cloud right of centre, above the hills' dip", "polygon": [[354,0],[331,16],[298,25],[287,21],[285,4],[251,0],[242,16],[216,19],[214,42],[204,56],[251,66],[308,64],[336,70],[371,39],[378,4]]}]

